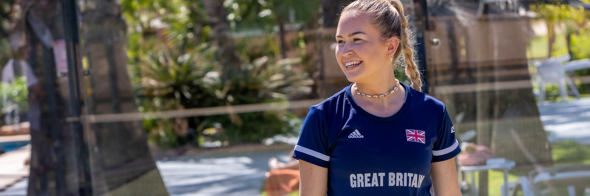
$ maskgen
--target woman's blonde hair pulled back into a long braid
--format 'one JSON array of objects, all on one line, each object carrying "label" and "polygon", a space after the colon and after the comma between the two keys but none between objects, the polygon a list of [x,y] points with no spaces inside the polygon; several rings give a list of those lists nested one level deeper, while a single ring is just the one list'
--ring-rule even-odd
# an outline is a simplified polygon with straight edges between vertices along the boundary
[{"label": "woman's blonde hair pulled back into a long braid", "polygon": [[357,0],[342,10],[342,14],[345,12],[375,14],[372,23],[381,32],[381,37],[384,40],[392,36],[399,39],[399,48],[395,51],[394,59],[399,59],[400,55],[404,55],[405,74],[411,81],[411,87],[421,91],[421,75],[414,61],[414,45],[410,40],[412,31],[408,29],[408,19],[404,15],[402,2],[399,0]]}]

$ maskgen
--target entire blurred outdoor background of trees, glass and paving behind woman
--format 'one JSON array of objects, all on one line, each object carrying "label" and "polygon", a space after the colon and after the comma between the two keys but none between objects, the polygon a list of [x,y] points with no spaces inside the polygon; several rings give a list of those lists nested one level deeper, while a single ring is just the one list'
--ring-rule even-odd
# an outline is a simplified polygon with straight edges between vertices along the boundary
[{"label": "entire blurred outdoor background of trees, glass and paving behind woman", "polygon": [[[297,195],[349,2],[1,1],[0,195]],[[463,195],[590,195],[590,1],[402,2]]]}]

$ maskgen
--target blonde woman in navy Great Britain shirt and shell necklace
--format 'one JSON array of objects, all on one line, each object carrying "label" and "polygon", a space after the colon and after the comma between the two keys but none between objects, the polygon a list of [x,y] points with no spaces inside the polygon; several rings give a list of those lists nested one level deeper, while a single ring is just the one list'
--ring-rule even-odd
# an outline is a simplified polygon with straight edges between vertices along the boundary
[{"label": "blonde woman in navy Great Britain shirt and shell necklace", "polygon": [[[399,0],[343,9],[336,59],[349,87],[309,109],[293,158],[301,195],[461,195],[444,104],[421,93]],[[395,79],[403,55],[411,86]]]}]

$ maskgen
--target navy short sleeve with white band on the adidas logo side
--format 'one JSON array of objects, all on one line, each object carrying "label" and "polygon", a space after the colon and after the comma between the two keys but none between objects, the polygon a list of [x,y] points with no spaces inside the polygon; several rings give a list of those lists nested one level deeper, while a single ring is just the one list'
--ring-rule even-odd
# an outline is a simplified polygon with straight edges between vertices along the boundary
[{"label": "navy short sleeve with white band on the adidas logo side", "polygon": [[312,106],[303,122],[293,158],[327,168],[330,161],[327,141],[324,115],[320,109]]}]

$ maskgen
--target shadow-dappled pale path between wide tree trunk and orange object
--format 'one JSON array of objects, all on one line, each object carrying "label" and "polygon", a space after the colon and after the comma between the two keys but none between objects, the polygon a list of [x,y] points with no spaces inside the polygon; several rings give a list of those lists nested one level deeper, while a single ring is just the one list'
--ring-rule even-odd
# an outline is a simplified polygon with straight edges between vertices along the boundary
[{"label": "shadow-dappled pale path between wide tree trunk and orange object", "polygon": [[215,157],[184,157],[158,161],[164,184],[170,195],[260,195],[268,159],[288,161],[289,151],[253,152]]}]

